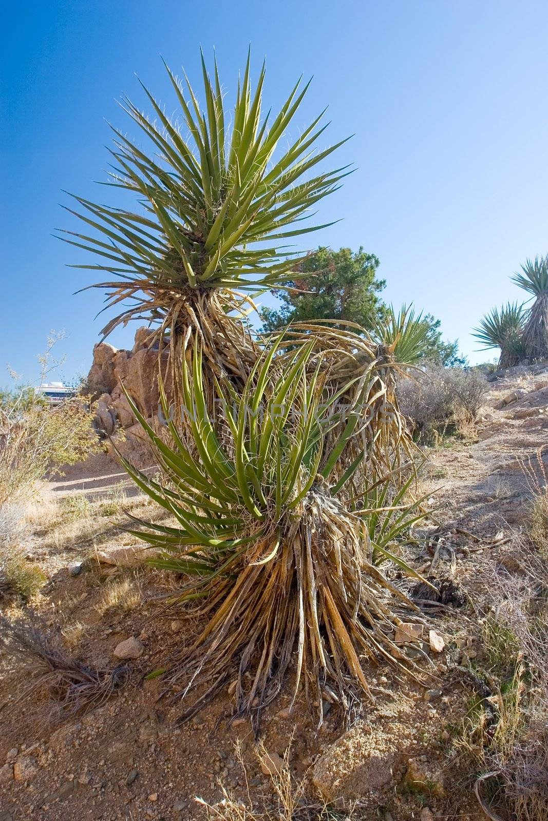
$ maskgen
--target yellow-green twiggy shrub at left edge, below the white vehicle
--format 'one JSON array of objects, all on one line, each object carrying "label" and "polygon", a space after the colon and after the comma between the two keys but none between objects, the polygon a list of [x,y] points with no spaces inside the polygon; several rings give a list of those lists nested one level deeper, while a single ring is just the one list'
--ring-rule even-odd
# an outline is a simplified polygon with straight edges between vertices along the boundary
[{"label": "yellow-green twiggy shrub at left edge, below the white vehicle", "polygon": [[23,388],[0,405],[0,505],[28,495],[35,483],[98,447],[93,415],[80,400],[44,406]]}]

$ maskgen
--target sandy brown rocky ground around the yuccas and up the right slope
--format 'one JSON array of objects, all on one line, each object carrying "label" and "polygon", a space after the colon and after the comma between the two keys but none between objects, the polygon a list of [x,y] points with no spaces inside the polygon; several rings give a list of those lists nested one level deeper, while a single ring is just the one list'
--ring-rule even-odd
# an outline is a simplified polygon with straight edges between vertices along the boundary
[{"label": "sandy brown rocky ground around the yuccas and up the right slope", "polygon": [[[140,544],[121,530],[122,508],[138,514],[145,501],[128,498],[107,456],[67,471],[31,516],[28,556],[48,576],[35,609],[67,652],[92,667],[126,664],[129,677],[104,703],[60,718],[44,689],[30,689],[24,666],[0,659],[1,821],[203,819],[196,796],[214,805],[223,788],[263,818],[288,772],[300,818],[319,818],[314,807],[324,802],[322,817],[346,818],[343,800],[352,819],[485,819],[454,740],[476,686],[466,670],[481,661],[477,612],[493,574],[512,572],[547,439],[548,369],[513,369],[490,383],[476,441],[445,439],[422,479],[431,538],[413,559],[452,591],[446,606],[428,609],[432,632],[409,637],[425,686],[389,667],[366,670],[375,700],[348,730],[329,702],[317,729],[302,704],[291,707],[288,689],[265,716],[260,749],[248,722],[227,726],[230,687],[177,726],[181,704],[159,698],[160,678],[145,680],[192,633],[159,608],[173,580],[143,569]],[[20,607],[0,603],[12,617]]]}]

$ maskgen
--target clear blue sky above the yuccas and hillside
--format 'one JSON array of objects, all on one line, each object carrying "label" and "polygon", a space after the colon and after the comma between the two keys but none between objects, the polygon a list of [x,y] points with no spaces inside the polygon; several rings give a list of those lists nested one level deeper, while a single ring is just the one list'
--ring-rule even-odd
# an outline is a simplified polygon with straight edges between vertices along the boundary
[{"label": "clear blue sky above the yuccas and hillside", "polygon": [[65,267],[77,250],[51,236],[73,227],[61,190],[104,200],[109,190],[93,181],[105,178],[106,120],[127,126],[115,101],[127,92],[144,104],[134,72],[168,93],[160,54],[199,85],[200,44],[206,57],[215,46],[230,90],[251,43],[256,69],[266,56],[274,106],[302,72],[314,75],[296,128],[329,104],[329,140],[354,133],[338,159],[357,165],[320,204],[321,222],[343,222],[315,244],[374,252],[385,299],[431,311],[477,360],[470,328],[518,297],[509,275],[548,250],[547,32],[546,0],[10,4],[0,385],[8,362],[35,376],[51,328],[67,332],[63,374],[89,368],[102,296],[72,296],[87,279]]}]

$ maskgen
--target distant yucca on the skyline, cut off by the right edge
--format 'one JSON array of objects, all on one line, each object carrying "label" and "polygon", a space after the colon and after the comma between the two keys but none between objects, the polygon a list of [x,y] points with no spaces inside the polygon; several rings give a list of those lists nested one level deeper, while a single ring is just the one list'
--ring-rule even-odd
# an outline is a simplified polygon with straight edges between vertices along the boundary
[{"label": "distant yucca on the skyline, cut off by the right edge", "polygon": [[531,359],[548,359],[548,255],[527,259],[513,282],[534,299],[523,328],[523,349]]}]

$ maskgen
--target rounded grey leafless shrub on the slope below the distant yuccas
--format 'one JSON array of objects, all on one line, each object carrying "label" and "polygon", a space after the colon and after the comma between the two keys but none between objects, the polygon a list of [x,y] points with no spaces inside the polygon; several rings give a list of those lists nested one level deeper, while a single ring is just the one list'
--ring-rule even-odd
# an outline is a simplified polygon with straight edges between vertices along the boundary
[{"label": "rounded grey leafless shrub on the slope below the distant yuccas", "polygon": [[421,441],[435,439],[449,427],[473,422],[487,383],[483,374],[431,365],[398,383],[398,402]]}]

